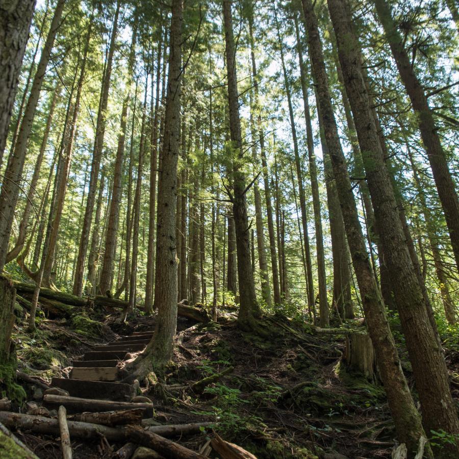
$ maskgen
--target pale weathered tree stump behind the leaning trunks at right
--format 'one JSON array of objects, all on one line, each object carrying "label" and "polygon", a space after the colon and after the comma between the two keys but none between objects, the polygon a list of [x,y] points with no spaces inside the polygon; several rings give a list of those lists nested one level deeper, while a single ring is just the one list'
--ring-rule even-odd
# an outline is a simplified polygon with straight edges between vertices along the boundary
[{"label": "pale weathered tree stump behind the leaning trunks at right", "polygon": [[343,361],[349,370],[363,374],[371,382],[377,381],[376,356],[366,331],[354,331],[347,336]]}]

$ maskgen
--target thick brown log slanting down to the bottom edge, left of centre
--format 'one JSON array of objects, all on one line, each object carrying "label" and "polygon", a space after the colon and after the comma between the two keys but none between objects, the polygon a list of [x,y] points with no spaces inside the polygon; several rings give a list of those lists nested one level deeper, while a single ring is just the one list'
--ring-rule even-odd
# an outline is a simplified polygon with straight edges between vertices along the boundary
[{"label": "thick brown log slanting down to the bottom edge, left of centre", "polygon": [[144,430],[142,427],[127,426],[125,427],[125,432],[128,438],[134,440],[135,443],[151,448],[166,457],[171,457],[172,459],[204,459],[202,454],[160,437],[154,432]]}]

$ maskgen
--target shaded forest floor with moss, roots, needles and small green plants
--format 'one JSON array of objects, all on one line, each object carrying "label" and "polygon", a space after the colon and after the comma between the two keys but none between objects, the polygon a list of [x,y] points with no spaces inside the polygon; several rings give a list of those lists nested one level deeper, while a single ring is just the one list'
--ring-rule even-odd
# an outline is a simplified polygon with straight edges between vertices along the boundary
[{"label": "shaded forest floor with moss, roots, needles and small green plants", "polygon": [[[71,359],[92,345],[154,327],[154,318],[139,316],[122,325],[114,319],[114,315],[100,322],[85,315],[71,321],[41,318],[34,336],[16,326],[18,369],[45,382],[53,376],[68,377]],[[155,421],[214,422],[223,439],[259,458],[391,457],[394,426],[384,390],[346,371],[341,363],[344,339],[315,335],[308,325],[280,315],[263,320],[269,339],[243,333],[230,313],[207,326],[192,326],[179,318],[181,344],[166,376],[166,388],[234,369],[200,394],[189,386],[168,390],[166,395],[163,391],[161,396],[151,387],[144,388],[143,395],[154,403]],[[447,358],[451,371],[457,373],[459,352],[447,352]],[[404,369],[411,380],[409,364]],[[40,404],[42,390],[30,384],[23,387],[27,400]],[[212,435],[211,430],[202,431],[177,442],[197,451]],[[16,432],[16,436],[40,458],[61,457],[56,437],[33,432]],[[110,458],[122,445],[72,441],[75,458]]]}]

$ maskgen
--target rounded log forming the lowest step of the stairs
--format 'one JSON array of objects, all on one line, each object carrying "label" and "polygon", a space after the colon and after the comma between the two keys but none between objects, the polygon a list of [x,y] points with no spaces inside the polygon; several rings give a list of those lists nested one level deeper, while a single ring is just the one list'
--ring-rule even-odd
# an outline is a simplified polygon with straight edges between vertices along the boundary
[{"label": "rounded log forming the lowest step of the stairs", "polygon": [[[120,386],[119,384],[117,386]],[[47,406],[60,406],[64,405],[67,412],[70,414],[90,412],[96,413],[98,411],[117,411],[117,410],[132,410],[140,408],[143,410],[144,418],[151,418],[153,416],[152,403],[131,403],[112,400],[98,400],[79,397],[67,397],[62,395],[45,395],[43,402]]]}]

